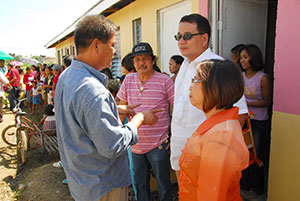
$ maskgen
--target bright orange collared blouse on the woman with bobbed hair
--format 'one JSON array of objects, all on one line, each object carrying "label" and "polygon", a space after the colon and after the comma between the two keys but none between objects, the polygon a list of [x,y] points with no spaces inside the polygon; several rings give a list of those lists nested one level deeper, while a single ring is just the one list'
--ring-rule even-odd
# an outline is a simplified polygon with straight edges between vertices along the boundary
[{"label": "bright orange collared blouse on the woman with bobbed hair", "polygon": [[188,139],[179,159],[179,201],[242,201],[249,151],[237,119],[236,107],[219,112]]}]

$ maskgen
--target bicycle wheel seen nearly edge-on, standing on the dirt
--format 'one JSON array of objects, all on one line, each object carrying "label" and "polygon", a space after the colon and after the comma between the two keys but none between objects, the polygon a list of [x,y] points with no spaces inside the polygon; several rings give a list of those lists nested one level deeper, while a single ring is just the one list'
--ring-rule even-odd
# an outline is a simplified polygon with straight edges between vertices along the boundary
[{"label": "bicycle wheel seen nearly edge-on, standing on the dirt", "polygon": [[22,164],[26,163],[26,152],[28,149],[27,144],[27,134],[26,134],[26,127],[20,127],[17,129],[17,152],[18,152],[18,159],[21,159]]}]

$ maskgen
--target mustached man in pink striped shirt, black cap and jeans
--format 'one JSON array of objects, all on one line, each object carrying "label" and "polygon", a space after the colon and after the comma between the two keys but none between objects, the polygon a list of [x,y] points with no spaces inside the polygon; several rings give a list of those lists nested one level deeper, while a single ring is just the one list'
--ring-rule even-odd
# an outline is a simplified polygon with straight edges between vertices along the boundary
[{"label": "mustached man in pink striped shirt, black cap and jeans", "polygon": [[150,170],[157,181],[160,200],[172,200],[170,187],[167,138],[169,106],[174,100],[174,82],[165,74],[154,71],[156,57],[148,43],[139,43],[132,49],[136,73],[125,77],[117,96],[120,105],[141,104],[135,112],[160,109],[155,125],[138,129],[139,141],[131,147],[134,166],[134,184],[137,200],[150,201]]}]

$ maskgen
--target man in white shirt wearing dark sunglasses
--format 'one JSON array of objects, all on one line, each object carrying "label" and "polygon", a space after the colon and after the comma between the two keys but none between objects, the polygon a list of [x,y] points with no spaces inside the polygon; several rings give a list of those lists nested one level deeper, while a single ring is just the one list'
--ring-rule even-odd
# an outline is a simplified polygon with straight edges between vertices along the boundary
[{"label": "man in white shirt wearing dark sunglasses", "polygon": [[[194,107],[189,100],[191,79],[196,74],[195,64],[207,59],[223,60],[208,47],[210,33],[208,20],[199,14],[191,14],[181,18],[178,33],[175,35],[179,50],[185,57],[175,80],[174,109],[171,123],[170,160],[177,178],[181,150],[187,139],[206,119],[204,113]],[[244,124],[248,113],[245,97],[243,96],[235,106],[239,107],[239,119],[241,124]]]}]

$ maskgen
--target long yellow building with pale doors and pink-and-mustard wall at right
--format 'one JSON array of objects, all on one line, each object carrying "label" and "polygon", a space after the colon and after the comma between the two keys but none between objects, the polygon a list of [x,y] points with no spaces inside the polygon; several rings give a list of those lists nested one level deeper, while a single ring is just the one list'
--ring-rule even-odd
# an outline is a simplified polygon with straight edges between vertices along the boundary
[{"label": "long yellow building with pale doors and pink-and-mustard wall at right", "polygon": [[[103,0],[84,15],[102,13],[119,28],[115,75],[120,60],[140,41],[149,42],[159,66],[169,72],[168,61],[179,54],[174,35],[179,19],[200,13],[212,26],[211,48],[230,59],[230,49],[254,43],[263,52],[265,72],[273,82],[268,200],[296,201],[300,197],[300,1],[299,0]],[[74,22],[46,47],[56,48],[58,62],[76,55]]]}]

